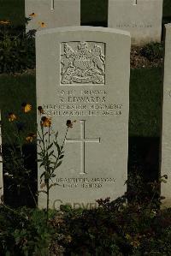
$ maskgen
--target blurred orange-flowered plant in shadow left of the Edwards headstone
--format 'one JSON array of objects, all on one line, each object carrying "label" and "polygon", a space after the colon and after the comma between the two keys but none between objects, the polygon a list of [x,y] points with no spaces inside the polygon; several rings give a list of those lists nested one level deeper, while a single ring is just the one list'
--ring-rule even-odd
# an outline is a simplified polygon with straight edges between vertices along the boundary
[{"label": "blurred orange-flowered plant in shadow left of the Edwards headstone", "polygon": [[[32,166],[36,166],[36,147],[33,141],[36,134],[29,130],[31,110],[31,104],[22,103],[19,113],[9,112],[4,120],[8,122],[5,134],[8,142],[3,144],[4,201],[10,201],[12,206],[26,205],[26,194],[32,198],[32,204],[37,205],[37,173],[32,169]],[[25,200],[22,202],[21,198]]]}]

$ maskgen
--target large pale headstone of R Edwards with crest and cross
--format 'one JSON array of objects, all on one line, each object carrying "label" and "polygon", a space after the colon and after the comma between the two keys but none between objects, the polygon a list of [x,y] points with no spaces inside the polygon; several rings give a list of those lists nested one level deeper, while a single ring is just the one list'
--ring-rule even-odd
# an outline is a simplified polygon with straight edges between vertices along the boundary
[{"label": "large pale headstone of R Edwards with crest and cross", "polygon": [[[129,33],[103,27],[37,33],[37,102],[52,117],[60,144],[67,120],[76,120],[50,207],[91,208],[127,189],[130,41]],[[45,206],[44,193],[38,205]]]}]

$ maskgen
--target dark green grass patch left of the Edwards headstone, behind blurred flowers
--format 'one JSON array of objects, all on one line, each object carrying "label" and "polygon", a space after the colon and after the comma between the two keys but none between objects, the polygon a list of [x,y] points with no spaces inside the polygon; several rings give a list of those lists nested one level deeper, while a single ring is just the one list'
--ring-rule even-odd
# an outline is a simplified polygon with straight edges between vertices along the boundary
[{"label": "dark green grass patch left of the Edwards headstone, behind blurred flowers", "polygon": [[[9,123],[7,118],[9,112],[21,114],[21,104],[23,100],[32,104],[32,111],[23,114],[22,122],[26,122],[24,131],[27,133],[32,131],[36,133],[36,91],[35,91],[35,76],[32,74],[1,74],[0,75],[0,109],[2,110],[2,134],[3,145],[9,145],[9,137],[14,137],[11,134],[13,124]],[[22,132],[23,133],[23,132]]]}]

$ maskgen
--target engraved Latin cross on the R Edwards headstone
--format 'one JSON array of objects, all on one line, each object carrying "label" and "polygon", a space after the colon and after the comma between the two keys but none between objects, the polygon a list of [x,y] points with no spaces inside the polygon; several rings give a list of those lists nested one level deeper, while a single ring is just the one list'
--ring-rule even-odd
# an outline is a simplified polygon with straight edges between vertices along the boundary
[{"label": "engraved Latin cross on the R Edwards headstone", "polygon": [[85,138],[85,120],[80,120],[80,139],[66,139],[68,142],[80,143],[80,174],[85,174],[85,143],[100,143],[100,138]]}]

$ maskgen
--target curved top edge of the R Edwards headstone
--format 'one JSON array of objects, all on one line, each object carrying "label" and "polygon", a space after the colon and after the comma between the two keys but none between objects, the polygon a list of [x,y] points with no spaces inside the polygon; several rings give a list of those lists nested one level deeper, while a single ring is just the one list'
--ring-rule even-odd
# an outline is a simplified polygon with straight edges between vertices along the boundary
[{"label": "curved top edge of the R Edwards headstone", "polygon": [[103,32],[103,33],[117,33],[125,35],[131,38],[129,32],[121,29],[110,28],[110,27],[89,27],[89,26],[75,26],[75,27],[56,27],[44,29],[36,32],[36,37],[49,34],[49,33],[66,33],[66,32],[77,32],[77,31],[94,31],[94,32]]}]

